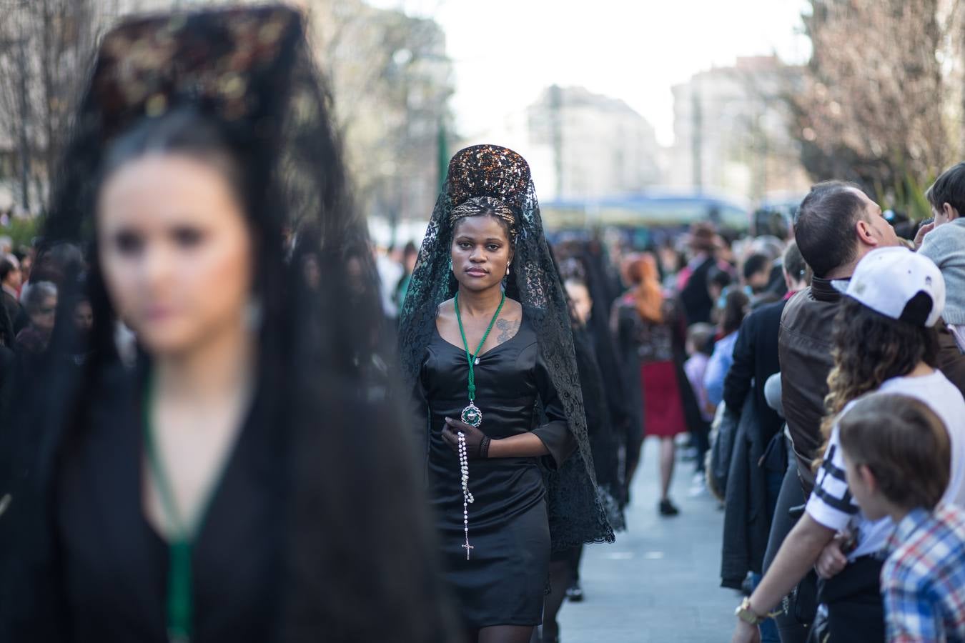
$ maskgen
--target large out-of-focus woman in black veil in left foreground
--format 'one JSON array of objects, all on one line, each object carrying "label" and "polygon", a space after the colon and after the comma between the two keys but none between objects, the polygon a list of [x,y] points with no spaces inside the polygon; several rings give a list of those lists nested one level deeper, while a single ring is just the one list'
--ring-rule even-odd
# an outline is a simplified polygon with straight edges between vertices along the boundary
[{"label": "large out-of-focus woman in black veil in left foreground", "polygon": [[[369,379],[371,254],[330,111],[288,8],[135,18],[102,40],[44,230],[91,249],[86,283],[65,281],[60,301],[89,298],[94,324],[79,348],[57,325],[6,438],[18,474],[0,525],[14,541],[3,640],[458,640],[403,415]],[[178,201],[191,180],[228,214]],[[237,242],[218,245],[229,229]],[[290,229],[305,230],[294,249]],[[213,273],[188,259],[212,249],[226,269],[191,300]],[[140,270],[152,277],[138,291]],[[129,367],[120,321],[139,340]],[[178,344],[192,324],[204,332]],[[189,521],[178,468],[196,453],[167,457],[169,371],[214,368],[222,354],[196,344],[236,336],[231,403],[202,404],[234,421],[210,422],[227,427],[223,458]],[[65,368],[67,350],[88,357]],[[202,420],[181,417],[200,449]]]}]

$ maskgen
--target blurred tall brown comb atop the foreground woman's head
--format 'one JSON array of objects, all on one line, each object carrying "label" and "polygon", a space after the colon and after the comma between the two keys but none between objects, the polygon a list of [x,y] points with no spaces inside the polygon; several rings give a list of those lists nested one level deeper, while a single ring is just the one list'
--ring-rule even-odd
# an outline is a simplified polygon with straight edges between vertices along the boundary
[{"label": "blurred tall brown comb atop the foreground woman's head", "polygon": [[107,137],[182,104],[262,124],[287,95],[301,33],[301,16],[281,6],[129,20],[104,37],[86,106]]}]

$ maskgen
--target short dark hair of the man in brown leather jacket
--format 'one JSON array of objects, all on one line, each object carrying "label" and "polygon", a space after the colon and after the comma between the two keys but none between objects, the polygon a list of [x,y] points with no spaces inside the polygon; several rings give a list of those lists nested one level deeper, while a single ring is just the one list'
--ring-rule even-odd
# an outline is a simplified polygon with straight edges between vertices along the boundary
[{"label": "short dark hair of the man in brown leather jacket", "polygon": [[824,181],[811,188],[794,215],[797,247],[814,271],[823,278],[857,255],[855,224],[864,216],[864,202],[853,183]]}]

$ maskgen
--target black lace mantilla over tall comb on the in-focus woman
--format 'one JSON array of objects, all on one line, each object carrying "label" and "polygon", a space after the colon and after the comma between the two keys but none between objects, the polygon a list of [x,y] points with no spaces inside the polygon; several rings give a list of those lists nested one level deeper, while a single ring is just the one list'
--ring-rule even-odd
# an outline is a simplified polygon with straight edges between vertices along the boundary
[{"label": "black lace mantilla over tall comb on the in-focus woman", "polygon": [[476,197],[499,199],[513,211],[515,255],[506,293],[523,305],[536,330],[540,356],[549,366],[569,430],[579,446],[560,469],[543,469],[553,549],[613,542],[613,527],[596,489],[565,293],[543,236],[529,165],[506,147],[467,147],[450,161],[446,183],[432,211],[402,305],[402,368],[409,382],[414,383],[434,332],[439,305],[455,296],[457,283],[450,270],[450,214],[456,206]]}]

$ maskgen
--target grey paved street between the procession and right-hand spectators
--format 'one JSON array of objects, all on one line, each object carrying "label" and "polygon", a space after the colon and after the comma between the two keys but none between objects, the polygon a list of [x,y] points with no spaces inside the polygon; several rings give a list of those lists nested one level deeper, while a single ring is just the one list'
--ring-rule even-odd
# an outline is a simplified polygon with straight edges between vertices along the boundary
[{"label": "grey paved street between the procession and right-hand spectators", "polygon": [[717,643],[730,640],[739,596],[720,587],[724,514],[709,494],[687,495],[692,463],[677,461],[676,518],[657,515],[657,442],[647,441],[629,529],[584,553],[583,603],[565,603],[564,643]]}]

